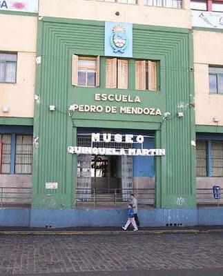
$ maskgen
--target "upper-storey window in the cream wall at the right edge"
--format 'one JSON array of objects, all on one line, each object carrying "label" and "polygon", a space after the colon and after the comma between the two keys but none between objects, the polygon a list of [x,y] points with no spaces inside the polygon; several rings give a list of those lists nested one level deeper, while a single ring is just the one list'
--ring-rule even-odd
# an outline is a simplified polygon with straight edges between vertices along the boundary
[{"label": "upper-storey window in the cream wall at the right edge", "polygon": [[209,67],[209,90],[210,93],[223,93],[223,68]]}]

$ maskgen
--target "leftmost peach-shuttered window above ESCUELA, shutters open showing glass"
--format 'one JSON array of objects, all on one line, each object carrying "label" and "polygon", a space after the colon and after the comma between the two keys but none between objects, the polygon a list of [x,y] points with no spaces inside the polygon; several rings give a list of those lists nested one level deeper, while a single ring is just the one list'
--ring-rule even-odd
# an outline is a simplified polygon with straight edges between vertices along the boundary
[{"label": "leftmost peach-shuttered window above ESCUELA, shutters open showing glass", "polygon": [[72,85],[99,86],[99,57],[72,55]]}]

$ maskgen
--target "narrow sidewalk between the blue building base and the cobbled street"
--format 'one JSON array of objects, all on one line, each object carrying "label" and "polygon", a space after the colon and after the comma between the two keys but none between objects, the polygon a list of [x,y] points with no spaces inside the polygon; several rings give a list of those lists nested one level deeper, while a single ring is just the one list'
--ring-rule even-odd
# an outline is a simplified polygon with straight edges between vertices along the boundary
[{"label": "narrow sidewalk between the blue building base and the cobbled street", "polygon": [[188,226],[188,227],[140,227],[137,232],[132,228],[124,231],[122,227],[71,227],[71,228],[28,228],[2,227],[0,235],[162,235],[168,233],[217,233],[223,232],[223,226]]}]

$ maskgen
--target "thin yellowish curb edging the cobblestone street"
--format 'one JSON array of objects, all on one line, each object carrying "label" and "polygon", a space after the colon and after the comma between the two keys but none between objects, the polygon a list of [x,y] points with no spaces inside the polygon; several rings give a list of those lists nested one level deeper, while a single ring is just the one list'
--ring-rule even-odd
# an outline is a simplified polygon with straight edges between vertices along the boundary
[{"label": "thin yellowish curb edging the cobblestone street", "polygon": [[209,233],[223,233],[223,229],[209,229],[209,230],[139,230],[133,232],[130,230],[101,230],[101,231],[0,231],[0,235],[163,235],[163,234],[209,234]]}]

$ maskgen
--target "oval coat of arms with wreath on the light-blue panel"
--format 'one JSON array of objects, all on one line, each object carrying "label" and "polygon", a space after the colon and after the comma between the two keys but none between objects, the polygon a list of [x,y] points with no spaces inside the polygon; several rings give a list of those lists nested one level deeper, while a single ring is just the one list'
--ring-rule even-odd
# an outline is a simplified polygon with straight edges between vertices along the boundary
[{"label": "oval coat of arms with wreath on the light-blue panel", "polygon": [[113,34],[110,37],[110,44],[114,52],[124,52],[128,41],[126,37],[126,29],[121,25],[116,25],[113,28]]}]

